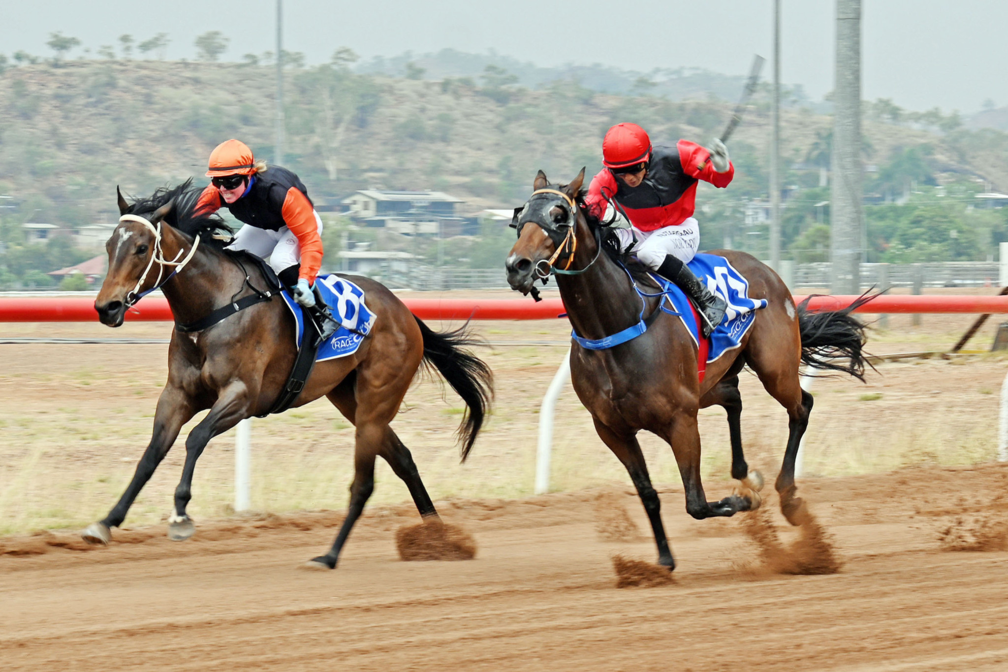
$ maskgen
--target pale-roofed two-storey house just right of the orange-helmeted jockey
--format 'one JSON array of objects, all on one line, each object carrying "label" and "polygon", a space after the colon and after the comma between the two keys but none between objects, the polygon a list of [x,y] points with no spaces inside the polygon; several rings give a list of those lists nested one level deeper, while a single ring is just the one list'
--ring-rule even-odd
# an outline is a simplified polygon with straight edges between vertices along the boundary
[{"label": "pale-roofed two-storey house just right of the orange-helmeted jockey", "polygon": [[347,215],[365,227],[389,229],[407,236],[458,236],[479,232],[475,218],[456,214],[464,203],[444,191],[362,189],[343,199]]}]

